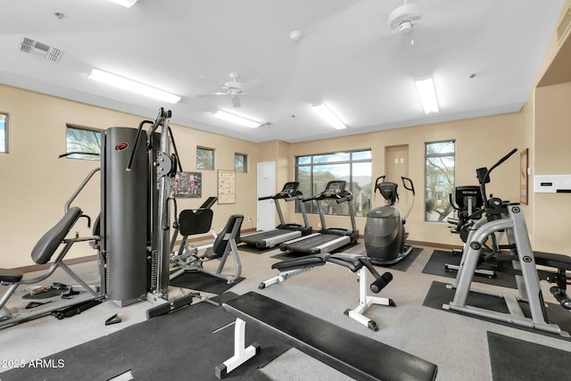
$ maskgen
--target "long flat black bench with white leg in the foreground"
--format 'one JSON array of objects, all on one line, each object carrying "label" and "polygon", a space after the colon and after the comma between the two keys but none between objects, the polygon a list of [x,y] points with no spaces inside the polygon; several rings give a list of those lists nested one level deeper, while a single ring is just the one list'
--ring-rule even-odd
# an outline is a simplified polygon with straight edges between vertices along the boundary
[{"label": "long flat black bench with white leg in the foreground", "polygon": [[236,316],[234,356],[215,369],[217,377],[260,353],[245,346],[245,325],[261,327],[328,366],[358,380],[434,380],[437,366],[370,337],[356,334],[264,295],[247,293],[223,303]]}]

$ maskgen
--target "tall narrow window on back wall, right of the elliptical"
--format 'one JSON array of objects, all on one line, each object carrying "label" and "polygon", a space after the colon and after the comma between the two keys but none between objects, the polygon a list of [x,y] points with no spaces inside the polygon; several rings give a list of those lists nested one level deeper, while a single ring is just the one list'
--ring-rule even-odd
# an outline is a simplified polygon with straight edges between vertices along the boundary
[{"label": "tall narrow window on back wall, right of the elliptical", "polygon": [[426,143],[426,221],[445,222],[453,212],[449,195],[454,190],[454,141]]}]

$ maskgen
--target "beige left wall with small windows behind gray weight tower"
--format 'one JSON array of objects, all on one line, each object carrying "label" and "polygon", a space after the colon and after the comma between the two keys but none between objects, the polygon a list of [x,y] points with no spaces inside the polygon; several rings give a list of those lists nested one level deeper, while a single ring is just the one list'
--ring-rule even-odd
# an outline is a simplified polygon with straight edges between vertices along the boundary
[{"label": "beige left wall with small windows behind gray weight tower", "polygon": [[[64,203],[87,173],[99,165],[57,158],[66,152],[66,123],[101,129],[137,128],[145,118],[2,85],[0,105],[0,112],[9,114],[10,149],[8,154],[0,153],[0,266],[13,268],[33,264],[31,249],[62,218]],[[234,213],[255,220],[257,146],[174,124],[170,127],[183,170],[195,170],[196,145],[216,150],[216,170],[233,170],[234,153],[248,154],[248,173],[236,174],[236,203],[214,205],[212,228],[219,231]],[[203,174],[203,197],[179,199],[178,210],[197,207],[206,197],[216,195],[216,170],[199,170]],[[99,181],[97,174],[74,203],[94,219],[100,210]],[[90,234],[83,219],[77,229],[81,235]],[[77,244],[68,258],[93,254],[87,244]]]}]

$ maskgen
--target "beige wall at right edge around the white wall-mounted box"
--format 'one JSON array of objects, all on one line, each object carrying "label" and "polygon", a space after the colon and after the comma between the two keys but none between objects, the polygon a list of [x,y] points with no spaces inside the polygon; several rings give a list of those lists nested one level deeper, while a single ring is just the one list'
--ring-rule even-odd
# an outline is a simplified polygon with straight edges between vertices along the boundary
[{"label": "beige wall at right edge around the white wall-mounted box", "polygon": [[[559,21],[571,0],[562,8]],[[558,22],[559,25],[559,22]],[[543,57],[536,86],[521,112],[522,145],[529,147],[529,166],[532,171],[529,184],[529,204],[525,217],[534,250],[571,255],[568,217],[571,213],[571,195],[534,194],[534,175],[571,174],[571,28],[558,38],[556,31]],[[550,86],[542,86],[548,82]]]}]

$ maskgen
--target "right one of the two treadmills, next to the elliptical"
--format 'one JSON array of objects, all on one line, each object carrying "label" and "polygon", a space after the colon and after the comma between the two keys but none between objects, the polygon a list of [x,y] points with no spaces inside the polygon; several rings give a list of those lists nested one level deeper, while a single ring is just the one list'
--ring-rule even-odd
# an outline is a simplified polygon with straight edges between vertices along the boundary
[{"label": "right one of the two treadmills, next to the elliptical", "polygon": [[[279,245],[282,252],[286,253],[331,253],[348,244],[355,244],[359,238],[359,230],[355,226],[355,214],[351,203],[353,195],[345,190],[346,181],[334,180],[327,183],[324,192],[303,200],[304,202],[315,200],[318,203],[319,219],[321,219],[321,230],[308,236],[295,238]],[[351,228],[327,228],[325,216],[321,207],[323,200],[335,200],[336,203],[349,204],[349,217]]]}]

